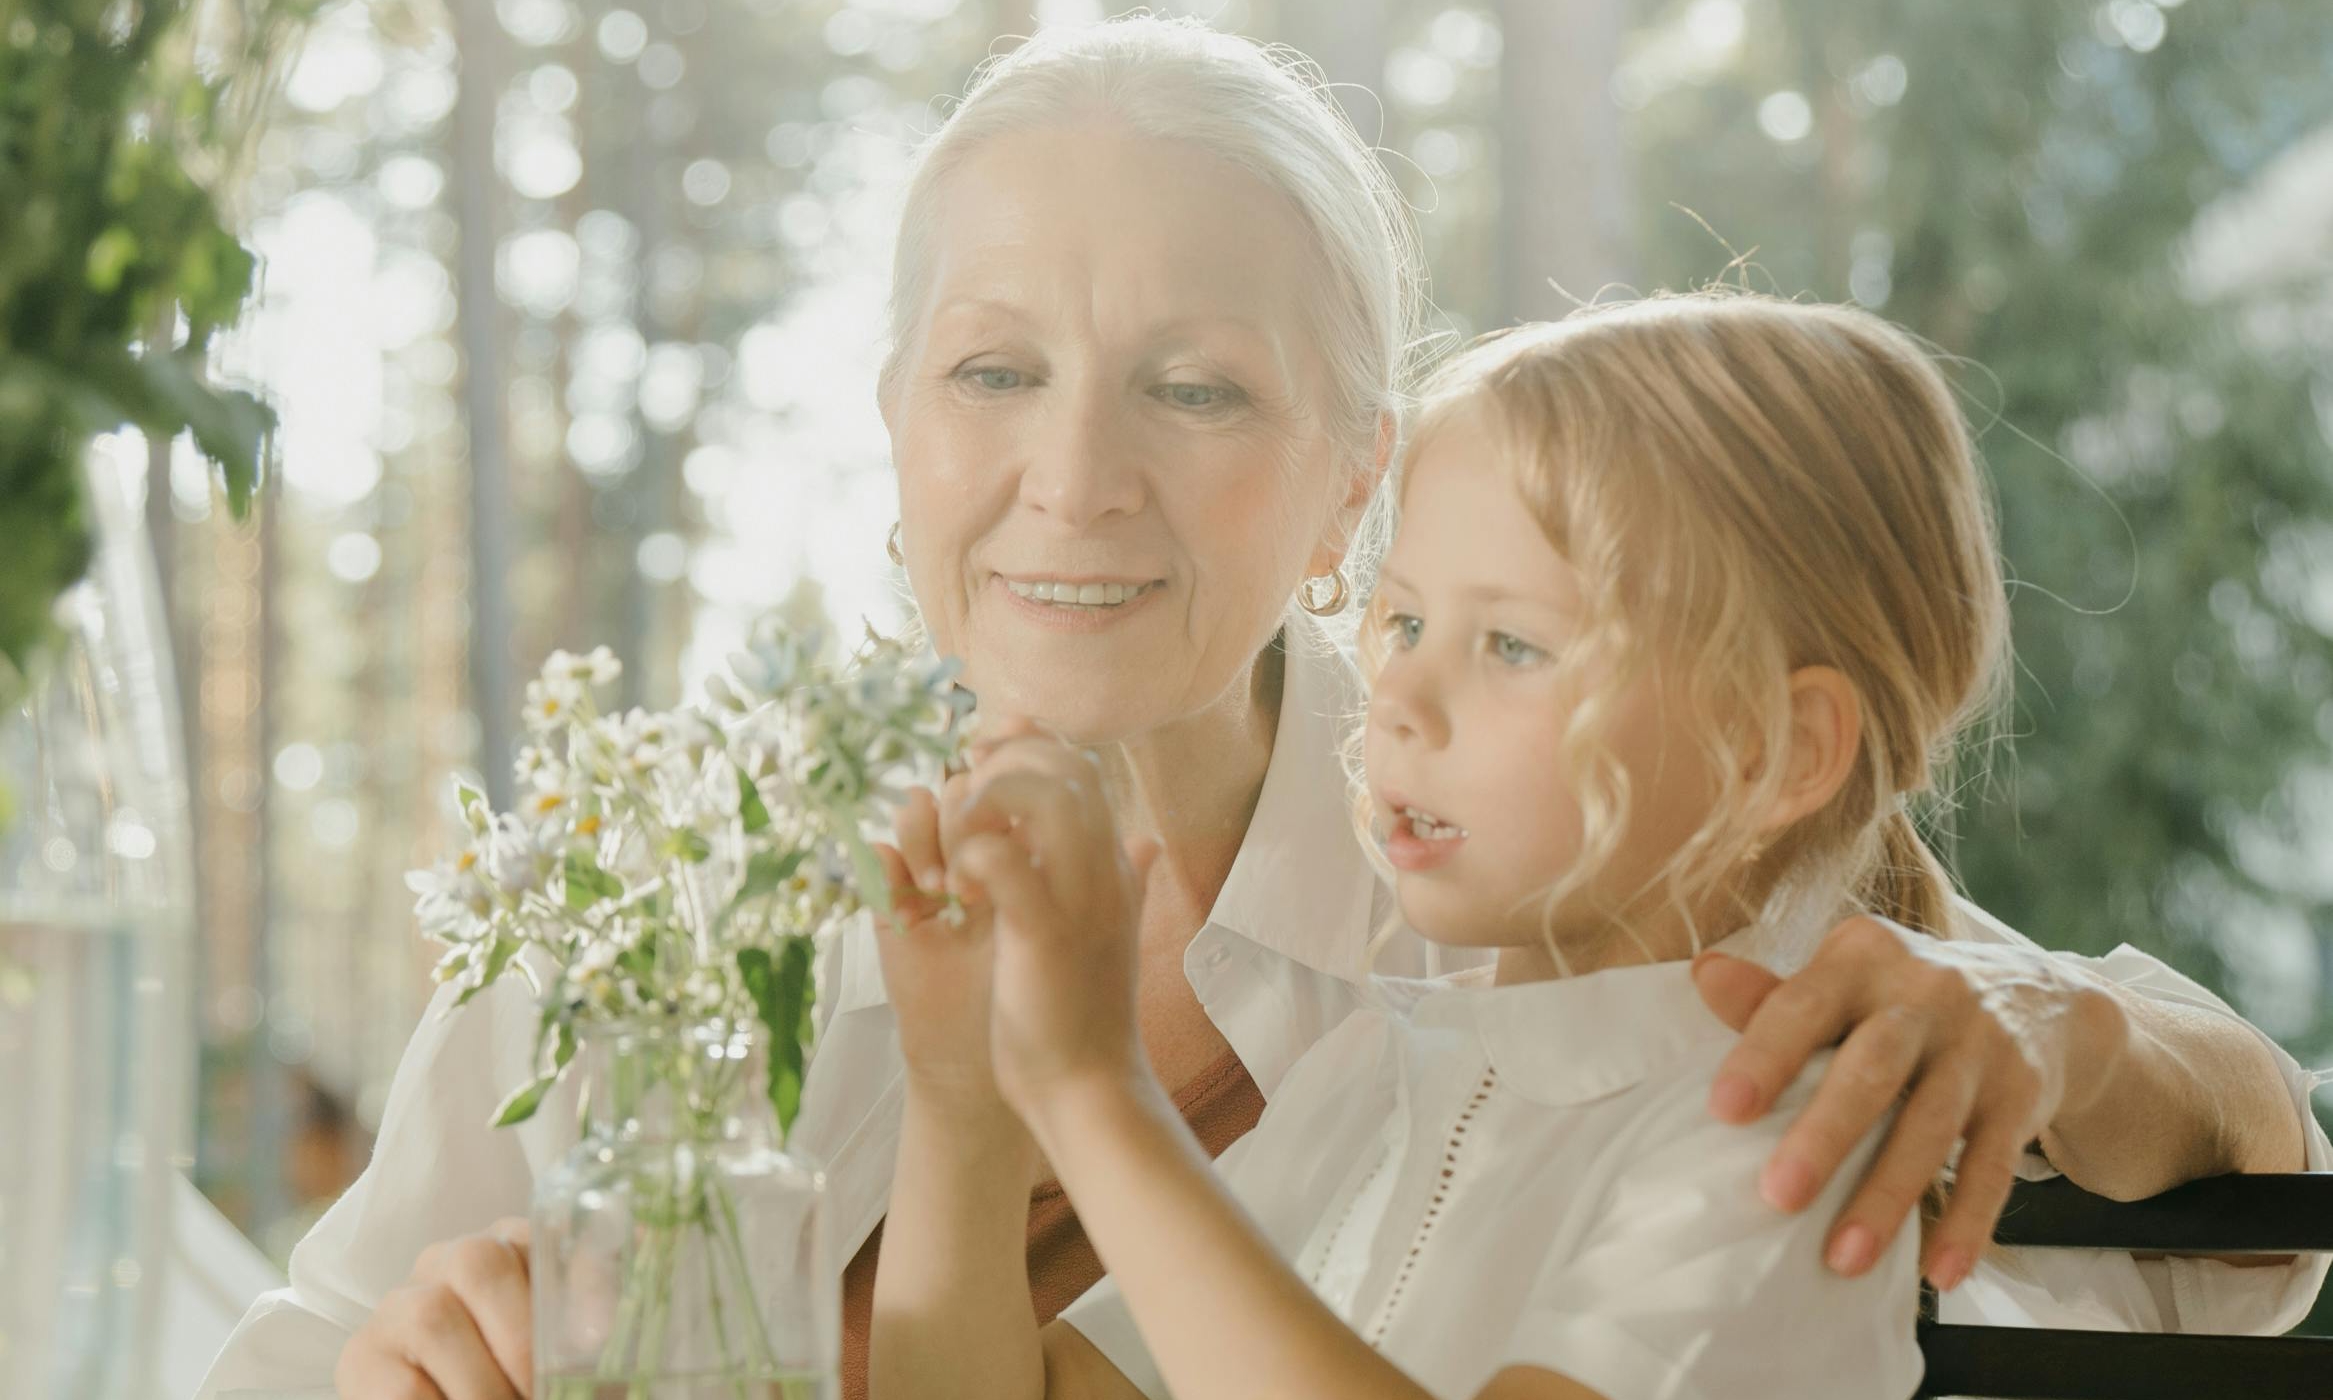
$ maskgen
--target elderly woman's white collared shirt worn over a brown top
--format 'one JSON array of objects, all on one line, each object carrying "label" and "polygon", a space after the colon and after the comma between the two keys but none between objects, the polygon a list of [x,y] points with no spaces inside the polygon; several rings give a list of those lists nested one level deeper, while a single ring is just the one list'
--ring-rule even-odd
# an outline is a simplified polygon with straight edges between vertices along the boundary
[{"label": "elderly woman's white collared shirt worn over a brown top", "polygon": [[[1313,618],[1290,611],[1271,765],[1232,873],[1183,957],[1199,1003],[1267,1099],[1320,1036],[1360,1008],[1369,938],[1395,912],[1346,819],[1339,742],[1360,707],[1351,663],[1327,646]],[[2023,943],[1983,915],[1976,919],[1981,936]],[[1449,952],[1400,933],[1374,968],[1432,975],[1453,971],[1449,961]],[[2097,968],[2149,996],[2228,1013],[2142,952],[2118,950]],[[873,929],[845,936],[824,959],[819,982],[821,1038],[793,1146],[826,1164],[840,1274],[891,1195],[901,1059]],[[341,1346],[406,1281],[420,1251],[525,1216],[537,1174],[574,1143],[572,1085],[548,1094],[520,1127],[488,1127],[502,1097],[532,1078],[537,1013],[525,982],[497,982],[457,1015],[446,1015],[450,1001],[453,992],[441,989],[406,1045],[364,1176],[292,1251],[289,1286],[252,1304],[205,1377],[203,1398],[329,1388]],[[2310,1167],[2324,1169],[2333,1148],[2307,1108],[2314,1078],[2282,1050],[2277,1062],[2310,1125]],[[2114,1316],[2128,1328],[2284,1330],[2307,1311],[2324,1279],[2321,1258],[2289,1269],[2069,1258],[2048,1281],[2004,1297],[2002,1307],[2016,1309],[2004,1321],[2048,1323],[2053,1300],[2069,1297],[2081,1316]],[[2163,1286],[2144,1283],[2139,1269]],[[1985,1272],[1978,1265],[1978,1276]],[[2107,1286],[2095,1286],[2100,1279]]]}]

